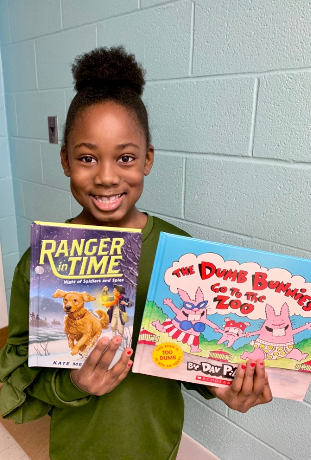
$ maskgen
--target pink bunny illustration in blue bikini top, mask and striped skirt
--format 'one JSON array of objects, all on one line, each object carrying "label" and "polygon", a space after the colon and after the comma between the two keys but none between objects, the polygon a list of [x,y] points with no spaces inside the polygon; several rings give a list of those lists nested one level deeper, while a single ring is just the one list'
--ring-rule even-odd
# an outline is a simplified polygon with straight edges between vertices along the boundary
[{"label": "pink bunny illustration in blue bikini top, mask and striped skirt", "polygon": [[178,342],[187,343],[190,352],[199,353],[199,335],[205,330],[205,326],[210,326],[215,332],[222,332],[219,327],[207,319],[207,302],[203,298],[203,292],[198,287],[196,299],[191,300],[186,291],[178,289],[179,296],[183,301],[181,309],[173,304],[171,298],[164,298],[163,304],[168,305],[176,316],[166,319],[164,323],[159,320],[153,321],[152,325],[160,332],[167,332],[170,337]]}]

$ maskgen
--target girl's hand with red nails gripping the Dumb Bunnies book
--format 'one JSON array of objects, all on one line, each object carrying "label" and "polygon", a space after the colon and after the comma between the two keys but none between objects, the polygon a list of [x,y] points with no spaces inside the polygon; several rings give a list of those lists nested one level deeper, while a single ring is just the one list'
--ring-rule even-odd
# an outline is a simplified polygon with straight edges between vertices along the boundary
[{"label": "girl's hand with red nails gripping the Dumb Bunnies book", "polygon": [[226,388],[207,386],[212,395],[221,399],[230,409],[243,413],[258,404],[272,401],[265,362],[262,359],[240,364],[232,384]]}]

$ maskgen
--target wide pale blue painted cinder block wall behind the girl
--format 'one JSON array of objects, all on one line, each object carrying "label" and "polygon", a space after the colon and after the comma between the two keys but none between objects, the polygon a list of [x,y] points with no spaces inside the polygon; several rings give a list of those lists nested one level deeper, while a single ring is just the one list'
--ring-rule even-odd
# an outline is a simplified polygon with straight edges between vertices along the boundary
[{"label": "wide pale blue painted cinder block wall behind the girl", "polygon": [[[47,143],[68,63],[123,43],[147,68],[156,163],[140,209],[195,237],[311,256],[311,11],[307,0],[2,0],[19,250],[32,219],[79,211]],[[221,460],[309,460],[311,393],[247,414],[185,393],[185,431]]]}]

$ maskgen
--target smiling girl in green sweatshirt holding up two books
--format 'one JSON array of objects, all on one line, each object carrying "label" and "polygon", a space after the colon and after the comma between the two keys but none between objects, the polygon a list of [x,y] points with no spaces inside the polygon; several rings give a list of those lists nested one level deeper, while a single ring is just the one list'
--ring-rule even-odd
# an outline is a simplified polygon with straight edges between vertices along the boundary
[{"label": "smiling girl in green sweatshirt holding up two books", "polygon": [[[160,231],[188,236],[139,212],[135,203],[153,164],[144,75],[124,48],[100,48],[73,65],[77,95],[68,110],[61,162],[83,211],[75,224],[142,228],[133,349],[108,370],[121,341],[103,337],[80,370],[28,367],[30,251],[18,263],[11,294],[9,339],[1,353],[3,417],[18,423],[52,408],[52,460],[173,460],[183,426],[180,382],[130,372]],[[109,347],[102,356],[103,350]],[[185,383],[246,412],[271,401],[264,362],[238,367],[228,388]]]}]

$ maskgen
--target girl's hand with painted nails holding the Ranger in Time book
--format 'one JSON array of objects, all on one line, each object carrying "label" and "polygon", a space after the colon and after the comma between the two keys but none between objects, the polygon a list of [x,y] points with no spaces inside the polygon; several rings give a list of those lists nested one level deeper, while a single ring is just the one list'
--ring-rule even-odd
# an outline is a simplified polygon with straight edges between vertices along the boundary
[{"label": "girl's hand with painted nails holding the Ranger in Time book", "polygon": [[81,368],[71,369],[71,379],[78,388],[90,395],[102,396],[122,382],[133,364],[130,360],[133,353],[131,348],[126,348],[121,358],[108,371],[121,340],[122,337],[116,335],[109,343],[108,337],[102,337]]}]

